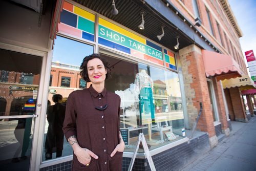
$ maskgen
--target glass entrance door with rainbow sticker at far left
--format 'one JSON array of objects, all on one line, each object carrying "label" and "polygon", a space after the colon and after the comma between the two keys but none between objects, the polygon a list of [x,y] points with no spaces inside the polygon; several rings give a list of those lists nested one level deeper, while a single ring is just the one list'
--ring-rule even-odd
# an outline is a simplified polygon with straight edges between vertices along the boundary
[{"label": "glass entrance door with rainbow sticker at far left", "polygon": [[29,170],[42,57],[0,49],[0,167]]}]

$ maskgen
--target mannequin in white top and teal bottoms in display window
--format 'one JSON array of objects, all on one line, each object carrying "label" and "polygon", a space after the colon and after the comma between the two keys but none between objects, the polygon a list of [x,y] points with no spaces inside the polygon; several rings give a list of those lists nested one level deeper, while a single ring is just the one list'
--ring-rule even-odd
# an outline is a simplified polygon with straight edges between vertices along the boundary
[{"label": "mannequin in white top and teal bottoms in display window", "polygon": [[[146,70],[141,70],[135,76],[135,85],[139,88],[140,100],[140,120],[148,124],[148,141],[150,145],[156,144],[156,140],[152,139],[151,124],[155,122],[155,105],[153,101],[153,79],[146,73]],[[138,90],[137,90],[138,91]],[[142,125],[143,123],[140,123]]]}]

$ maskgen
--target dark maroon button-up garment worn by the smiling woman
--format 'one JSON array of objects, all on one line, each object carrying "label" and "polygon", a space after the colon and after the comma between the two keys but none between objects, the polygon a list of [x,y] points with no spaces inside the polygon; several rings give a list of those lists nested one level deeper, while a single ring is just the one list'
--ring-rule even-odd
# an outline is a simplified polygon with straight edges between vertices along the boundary
[{"label": "dark maroon button-up garment worn by the smiling woman", "polygon": [[[96,92],[89,89],[77,90],[69,95],[63,133],[66,139],[75,135],[82,148],[88,148],[99,158],[92,158],[89,166],[80,163],[73,154],[72,170],[121,170],[122,152],[110,154],[119,144],[120,97],[104,89]],[[108,107],[103,110],[105,104]]]}]

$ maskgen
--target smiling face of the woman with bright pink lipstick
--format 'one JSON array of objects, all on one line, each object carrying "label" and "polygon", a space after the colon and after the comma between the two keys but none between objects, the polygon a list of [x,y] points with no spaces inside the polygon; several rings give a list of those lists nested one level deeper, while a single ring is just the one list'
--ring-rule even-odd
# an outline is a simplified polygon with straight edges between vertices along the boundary
[{"label": "smiling face of the woman with bright pink lipstick", "polygon": [[99,58],[88,61],[87,72],[92,83],[101,83],[106,79],[106,69]]}]

